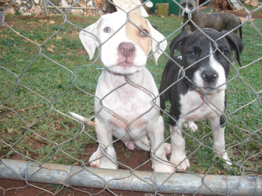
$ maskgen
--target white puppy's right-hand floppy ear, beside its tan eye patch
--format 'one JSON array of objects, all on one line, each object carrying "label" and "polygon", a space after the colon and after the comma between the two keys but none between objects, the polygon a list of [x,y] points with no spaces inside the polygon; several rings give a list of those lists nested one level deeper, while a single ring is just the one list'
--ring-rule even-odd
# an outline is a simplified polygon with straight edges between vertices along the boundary
[{"label": "white puppy's right-hand floppy ear, beside its tan eye patch", "polygon": [[154,56],[154,62],[157,64],[157,60],[159,59],[159,56],[163,53],[162,51],[166,50],[166,46],[168,45],[168,42],[166,38],[159,33],[152,25],[150,22],[147,20],[147,26],[150,27],[150,32],[151,32],[151,46],[152,46],[152,52]]}]

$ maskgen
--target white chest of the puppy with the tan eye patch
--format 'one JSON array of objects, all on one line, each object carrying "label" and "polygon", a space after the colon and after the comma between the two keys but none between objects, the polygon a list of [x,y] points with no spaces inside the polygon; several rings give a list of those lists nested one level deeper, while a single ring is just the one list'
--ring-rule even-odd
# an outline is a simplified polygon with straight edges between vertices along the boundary
[{"label": "white chest of the puppy with the tan eye patch", "polygon": [[[101,121],[126,129],[127,123],[132,123],[133,127],[140,127],[145,126],[148,121],[156,120],[159,110],[150,109],[154,106],[154,95],[158,93],[157,86],[152,85],[154,80],[148,70],[143,71],[146,74],[142,81],[145,82],[138,82],[136,79],[140,77],[140,73],[136,73],[136,79],[131,79],[133,83],[126,82],[124,76],[113,75],[110,79],[108,75],[104,77],[107,72],[102,73],[99,88],[96,89],[96,97],[101,102],[97,99],[95,101],[95,112],[101,117]],[[159,104],[159,99],[156,101]]]}]

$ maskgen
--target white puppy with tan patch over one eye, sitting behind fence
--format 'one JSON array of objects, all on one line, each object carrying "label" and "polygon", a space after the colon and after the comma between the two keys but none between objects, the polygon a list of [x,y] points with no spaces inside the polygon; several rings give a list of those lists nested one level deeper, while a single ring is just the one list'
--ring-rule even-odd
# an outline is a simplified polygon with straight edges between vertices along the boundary
[{"label": "white puppy with tan patch over one eye, sitting behind fence", "polygon": [[163,144],[163,119],[156,106],[159,93],[145,68],[151,50],[157,63],[166,49],[165,38],[137,13],[126,15],[122,11],[103,15],[84,30],[80,32],[80,40],[89,58],[92,59],[98,47],[105,66],[94,105],[99,148],[89,159],[90,165],[117,169],[114,136],[130,150],[136,146],[151,151],[154,172],[173,172],[174,167],[166,159],[170,145]]}]

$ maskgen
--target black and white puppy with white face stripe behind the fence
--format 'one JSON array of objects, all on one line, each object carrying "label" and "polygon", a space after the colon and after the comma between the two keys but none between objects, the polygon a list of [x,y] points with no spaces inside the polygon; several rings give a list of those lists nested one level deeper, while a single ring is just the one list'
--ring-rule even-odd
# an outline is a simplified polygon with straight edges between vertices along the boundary
[{"label": "black and white puppy with white face stripe behind the fence", "polygon": [[[226,124],[226,79],[229,74],[232,52],[240,64],[244,45],[239,36],[228,31],[202,29],[184,31],[170,43],[172,59],[166,63],[159,88],[161,109],[170,101],[169,126],[171,136],[170,162],[177,169],[190,167],[185,153],[182,126],[196,131],[194,121],[209,119],[212,128],[215,156],[231,160],[225,151],[224,128]],[[214,40],[214,41],[212,41]],[[217,47],[215,47],[217,45]],[[174,57],[174,50],[182,56]],[[180,65],[182,69],[180,68]]]}]

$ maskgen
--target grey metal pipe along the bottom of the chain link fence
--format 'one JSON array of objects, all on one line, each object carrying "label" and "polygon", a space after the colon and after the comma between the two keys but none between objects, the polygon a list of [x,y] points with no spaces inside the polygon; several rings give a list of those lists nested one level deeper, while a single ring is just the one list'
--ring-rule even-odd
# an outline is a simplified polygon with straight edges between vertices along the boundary
[{"label": "grey metal pipe along the bottom of the chain link fence", "polygon": [[[254,176],[215,176],[165,174],[99,169],[3,159],[0,178],[70,186],[132,190],[186,195],[262,195],[262,178]],[[169,179],[168,179],[169,178]]]}]

